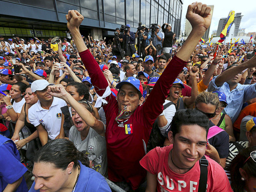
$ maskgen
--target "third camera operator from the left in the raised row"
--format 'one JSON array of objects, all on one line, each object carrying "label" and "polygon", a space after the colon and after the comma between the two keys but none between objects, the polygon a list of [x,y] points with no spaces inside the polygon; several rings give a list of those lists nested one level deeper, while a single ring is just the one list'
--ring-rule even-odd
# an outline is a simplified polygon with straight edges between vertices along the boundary
[{"label": "third camera operator from the left in the raised row", "polygon": [[[144,53],[144,49],[147,47],[146,39],[148,37],[148,33],[145,31],[146,25],[145,24],[139,24],[138,30],[135,34],[135,38],[138,38],[137,48],[138,48],[138,55],[141,56],[141,54]],[[139,33],[139,34],[138,34]],[[140,49],[139,49],[140,48]]]}]

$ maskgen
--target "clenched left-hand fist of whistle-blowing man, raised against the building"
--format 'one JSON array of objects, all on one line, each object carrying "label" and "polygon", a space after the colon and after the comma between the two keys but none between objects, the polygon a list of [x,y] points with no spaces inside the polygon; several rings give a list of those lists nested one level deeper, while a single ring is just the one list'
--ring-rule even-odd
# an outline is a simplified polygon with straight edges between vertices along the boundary
[{"label": "clenched left-hand fist of whistle-blowing man, raised against the building", "polygon": [[66,15],[67,28],[72,31],[72,29],[79,29],[80,24],[84,20],[84,16],[81,15],[77,10],[69,10]]}]

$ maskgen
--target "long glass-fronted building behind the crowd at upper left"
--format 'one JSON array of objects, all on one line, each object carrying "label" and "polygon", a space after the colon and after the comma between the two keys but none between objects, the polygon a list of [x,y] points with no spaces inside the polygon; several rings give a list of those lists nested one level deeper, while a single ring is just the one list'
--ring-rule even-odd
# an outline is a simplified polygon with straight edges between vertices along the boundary
[{"label": "long glass-fronted building behind the crowd at upper left", "polygon": [[179,36],[183,0],[0,0],[0,35],[21,37],[66,36],[68,10],[84,16],[81,34],[96,39],[113,36],[115,28],[139,22],[172,25]]}]

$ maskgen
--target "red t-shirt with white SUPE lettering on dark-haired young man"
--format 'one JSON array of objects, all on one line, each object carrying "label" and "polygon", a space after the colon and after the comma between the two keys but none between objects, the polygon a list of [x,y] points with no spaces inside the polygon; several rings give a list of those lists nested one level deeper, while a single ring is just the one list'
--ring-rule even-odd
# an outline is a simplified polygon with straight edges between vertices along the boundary
[{"label": "red t-shirt with white SUPE lettering on dark-haired young man", "polygon": [[[168,166],[168,156],[172,145],[156,147],[144,156],[140,163],[151,174],[157,175],[158,192],[197,192],[200,178],[200,165],[184,174],[173,172]],[[214,160],[206,157],[208,165],[207,192],[233,192],[224,169]]]}]

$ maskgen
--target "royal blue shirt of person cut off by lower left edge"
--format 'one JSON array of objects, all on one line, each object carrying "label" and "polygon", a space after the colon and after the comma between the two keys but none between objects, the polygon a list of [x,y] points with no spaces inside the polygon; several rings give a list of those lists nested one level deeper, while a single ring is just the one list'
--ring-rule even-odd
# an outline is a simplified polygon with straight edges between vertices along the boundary
[{"label": "royal blue shirt of person cut off by lower left edge", "polygon": [[[20,154],[11,139],[0,135],[0,192],[10,183],[23,177],[27,168],[20,162]],[[23,177],[15,192],[27,192],[26,180]]]}]

